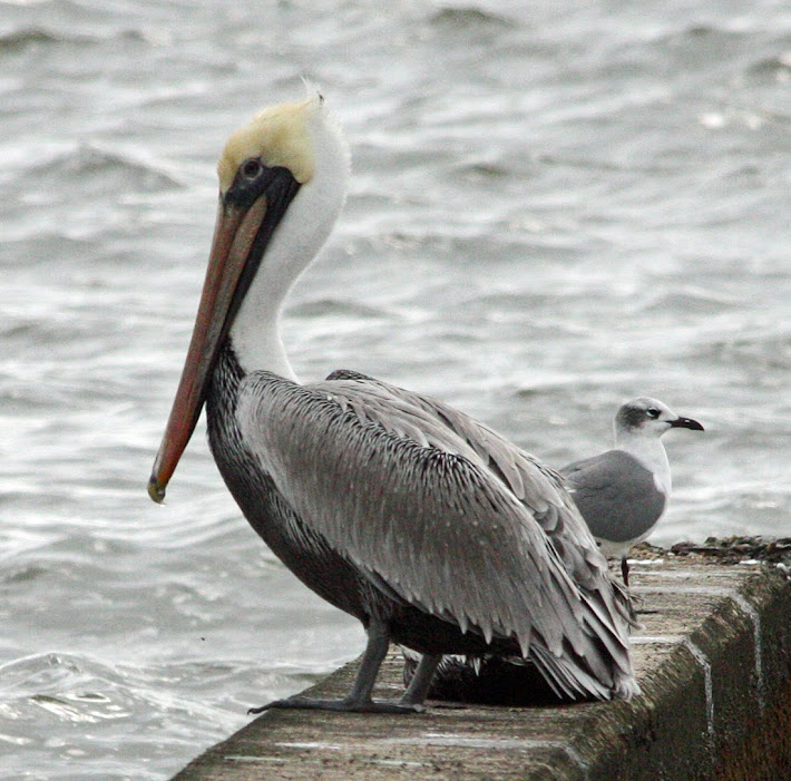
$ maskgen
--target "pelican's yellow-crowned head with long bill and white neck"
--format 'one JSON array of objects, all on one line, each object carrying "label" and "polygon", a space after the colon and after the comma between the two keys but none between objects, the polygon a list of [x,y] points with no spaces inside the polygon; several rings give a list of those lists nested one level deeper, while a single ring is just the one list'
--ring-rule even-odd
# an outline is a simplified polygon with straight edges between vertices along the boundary
[{"label": "pelican's yellow-crowned head with long bill and white neck", "polygon": [[318,94],[265,108],[225,144],[206,279],[148,484],[155,501],[165,497],[228,336],[243,368],[291,372],[277,334],[280,309],[330,233],[348,168],[345,143]]}]

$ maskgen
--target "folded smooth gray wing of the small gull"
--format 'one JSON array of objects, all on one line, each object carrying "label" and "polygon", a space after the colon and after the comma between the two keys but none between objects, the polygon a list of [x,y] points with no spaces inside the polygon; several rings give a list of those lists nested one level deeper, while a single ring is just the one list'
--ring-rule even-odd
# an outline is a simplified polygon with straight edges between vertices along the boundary
[{"label": "folded smooth gray wing of the small gull", "polygon": [[667,497],[654,476],[623,450],[607,450],[563,468],[568,488],[594,537],[628,543],[646,535]]}]

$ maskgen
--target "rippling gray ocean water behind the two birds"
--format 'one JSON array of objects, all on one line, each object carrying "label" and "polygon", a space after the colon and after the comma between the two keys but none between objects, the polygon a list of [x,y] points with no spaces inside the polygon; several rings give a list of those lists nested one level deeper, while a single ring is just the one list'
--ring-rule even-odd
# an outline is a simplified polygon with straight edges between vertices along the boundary
[{"label": "rippling gray ocean water behind the two birds", "polygon": [[789,534],[785,0],[0,2],[0,778],[165,779],[361,650],[193,439],[146,480],[215,163],[322,87],[346,208],[285,321],[560,466],[625,399],[666,437],[660,543]]}]

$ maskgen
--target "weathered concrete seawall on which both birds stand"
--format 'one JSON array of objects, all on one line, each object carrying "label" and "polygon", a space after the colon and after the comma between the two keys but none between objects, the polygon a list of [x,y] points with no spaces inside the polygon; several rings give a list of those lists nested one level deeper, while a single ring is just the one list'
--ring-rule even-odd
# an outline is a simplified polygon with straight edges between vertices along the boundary
[{"label": "weathered concrete seawall on which both birds stand", "polygon": [[[777,564],[785,548],[768,549],[652,548],[634,564],[643,694],[632,703],[432,703],[403,716],[274,711],[174,781],[791,779],[791,585]],[[399,695],[401,667],[391,653],[378,696]],[[342,696],[354,668],[312,693]]]}]

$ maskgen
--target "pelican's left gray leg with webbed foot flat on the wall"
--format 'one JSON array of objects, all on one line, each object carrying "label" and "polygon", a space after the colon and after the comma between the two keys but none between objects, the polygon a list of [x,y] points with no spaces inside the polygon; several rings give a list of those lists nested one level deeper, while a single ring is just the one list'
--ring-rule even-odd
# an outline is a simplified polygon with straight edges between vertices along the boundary
[{"label": "pelican's left gray leg with webbed foot flat on the wall", "polygon": [[[368,644],[360,662],[351,691],[343,700],[318,700],[293,696],[251,707],[247,713],[263,713],[273,707],[305,707],[319,711],[352,711],[355,713],[417,713],[423,710],[419,702],[381,702],[371,699],[377,675],[390,647],[390,633],[384,623],[372,621],[368,626]],[[422,701],[420,701],[422,702]]]}]

